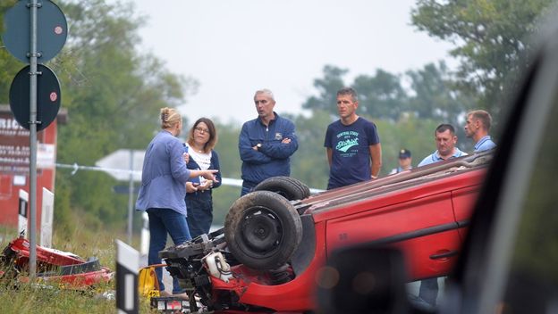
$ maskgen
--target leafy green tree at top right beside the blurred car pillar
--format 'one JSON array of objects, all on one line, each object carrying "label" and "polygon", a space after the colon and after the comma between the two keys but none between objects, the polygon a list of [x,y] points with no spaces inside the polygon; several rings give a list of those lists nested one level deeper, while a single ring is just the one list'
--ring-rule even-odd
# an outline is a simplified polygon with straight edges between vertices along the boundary
[{"label": "leafy green tree at top right beside the blurred car pillar", "polygon": [[457,45],[460,88],[475,97],[477,107],[497,115],[507,78],[515,78],[532,50],[527,38],[537,31],[541,14],[553,0],[418,0],[412,24]]}]

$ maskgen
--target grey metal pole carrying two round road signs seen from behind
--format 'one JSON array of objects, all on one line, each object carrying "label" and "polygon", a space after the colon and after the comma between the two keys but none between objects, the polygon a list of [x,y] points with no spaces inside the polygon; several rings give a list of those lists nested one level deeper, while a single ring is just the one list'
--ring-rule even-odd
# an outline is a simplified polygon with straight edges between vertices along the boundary
[{"label": "grey metal pole carrying two round road signs seen from behind", "polygon": [[[40,20],[38,9],[41,9]],[[47,62],[60,52],[66,41],[68,25],[63,12],[56,4],[51,1],[42,1],[39,4],[38,0],[16,2],[4,14],[4,24],[6,30],[2,34],[2,41],[5,47],[22,62],[30,62],[29,94],[26,91],[27,87],[22,87],[23,84],[16,76],[10,87],[10,108],[21,127],[26,128],[29,125],[30,130],[30,277],[34,279],[37,274],[37,131],[47,128],[50,122],[55,120],[60,106],[60,84],[54,73],[44,65],[41,64],[41,71],[38,71],[38,58],[41,62]],[[41,43],[38,43],[39,35]],[[23,70],[27,71],[26,69],[27,67]],[[43,79],[39,81],[37,77],[43,71],[49,74],[46,75],[49,77],[47,80],[51,81],[48,87]],[[22,81],[26,83],[24,75],[23,72]],[[41,83],[41,90],[45,90],[47,96],[38,96],[38,83]],[[30,97],[29,107],[27,95]],[[29,108],[29,115],[27,112],[21,114],[22,108]],[[41,121],[37,120],[38,109],[42,113]]]}]

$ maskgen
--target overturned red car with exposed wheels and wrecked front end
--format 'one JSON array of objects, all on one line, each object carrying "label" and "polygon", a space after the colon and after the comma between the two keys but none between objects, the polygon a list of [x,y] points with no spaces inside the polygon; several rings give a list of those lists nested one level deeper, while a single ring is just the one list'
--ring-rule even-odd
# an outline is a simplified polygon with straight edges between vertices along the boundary
[{"label": "overturned red car with exposed wheels and wrecked front end", "polygon": [[232,204],[223,229],[160,256],[190,300],[227,312],[315,309],[317,286],[328,285],[325,261],[353,244],[400,248],[409,281],[444,276],[491,158],[470,155],[315,195],[296,179],[270,178]]}]

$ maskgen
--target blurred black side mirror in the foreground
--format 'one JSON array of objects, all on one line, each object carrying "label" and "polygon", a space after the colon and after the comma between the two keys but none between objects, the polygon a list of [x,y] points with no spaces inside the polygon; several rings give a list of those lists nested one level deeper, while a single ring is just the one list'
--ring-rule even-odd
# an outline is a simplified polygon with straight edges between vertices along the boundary
[{"label": "blurred black side mirror in the foreground", "polygon": [[409,313],[407,270],[394,248],[351,247],[333,252],[318,272],[318,313]]}]

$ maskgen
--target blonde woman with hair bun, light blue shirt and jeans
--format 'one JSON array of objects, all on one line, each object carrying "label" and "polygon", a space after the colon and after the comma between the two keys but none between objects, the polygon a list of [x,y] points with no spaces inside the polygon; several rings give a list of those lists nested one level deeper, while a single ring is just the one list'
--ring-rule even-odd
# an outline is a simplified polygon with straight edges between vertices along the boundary
[{"label": "blonde woman with hair bun, light blue shirt and jeans", "polygon": [[[137,211],[147,211],[149,218],[148,265],[160,264],[159,251],[165,249],[167,234],[174,244],[191,239],[186,223],[186,181],[203,177],[216,181],[217,170],[190,170],[186,168],[183,146],[176,137],[182,131],[182,117],[173,108],[162,108],[160,112],[162,130],[151,140],[146,150],[141,186],[139,186]],[[163,283],[163,271],[156,269],[160,293],[168,296]],[[186,293],[173,280],[173,294],[186,298]]]}]

